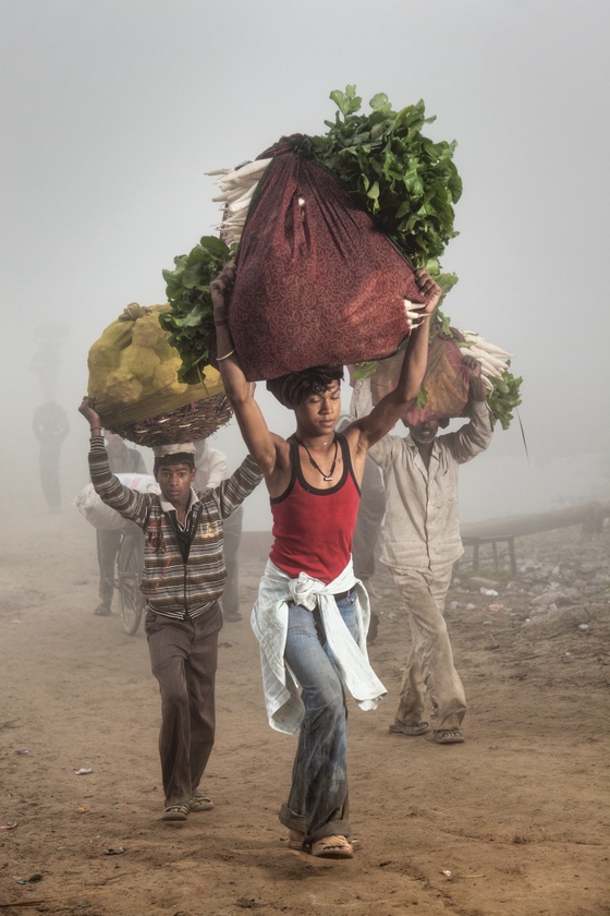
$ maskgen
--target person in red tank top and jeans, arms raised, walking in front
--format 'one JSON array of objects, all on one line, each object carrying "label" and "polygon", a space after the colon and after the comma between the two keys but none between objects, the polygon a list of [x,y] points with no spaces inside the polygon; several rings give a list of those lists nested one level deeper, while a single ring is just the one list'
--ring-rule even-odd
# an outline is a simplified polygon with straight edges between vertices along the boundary
[{"label": "person in red tank top and jeans, arms raised, walking in front", "polygon": [[415,306],[420,318],[396,389],[342,433],[335,433],[341,366],[268,382],[294,411],[296,432],[284,439],[269,431],[235,355],[225,314],[234,276],[229,264],[210,285],[218,365],[244,441],[265,475],[274,538],[252,626],[260,644],[269,724],[289,734],[301,728],[292,787],[279,817],[292,848],[350,858],[345,690],[362,709],[375,709],[386,694],[368,663],[368,596],[352,566],[359,487],[367,449],[417,397],[440,289],[417,272],[428,304]]}]

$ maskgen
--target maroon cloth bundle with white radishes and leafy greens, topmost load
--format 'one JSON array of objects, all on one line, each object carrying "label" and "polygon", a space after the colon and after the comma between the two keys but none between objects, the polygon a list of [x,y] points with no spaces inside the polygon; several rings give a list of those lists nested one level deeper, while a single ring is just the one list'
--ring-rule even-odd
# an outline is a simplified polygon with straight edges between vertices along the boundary
[{"label": "maroon cloth bundle with white radishes and leafy greens, topmost load", "polygon": [[[422,302],[413,266],[437,275],[456,234],[455,144],[422,134],[434,120],[424,104],[394,111],[379,94],[364,114],[354,86],[331,98],[339,111],[326,134],[282,137],[254,162],[210,172],[221,190],[218,242],[224,263],[237,263],[229,326],[251,379],[395,352],[410,328],[403,300]],[[212,242],[163,273],[172,309],[163,327],[185,381],[213,355]]]}]

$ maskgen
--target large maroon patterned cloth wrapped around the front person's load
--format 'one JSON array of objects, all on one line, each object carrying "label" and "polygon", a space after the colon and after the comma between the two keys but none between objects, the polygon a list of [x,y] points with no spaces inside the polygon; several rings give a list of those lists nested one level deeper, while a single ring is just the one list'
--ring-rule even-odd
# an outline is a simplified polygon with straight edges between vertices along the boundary
[{"label": "large maroon patterned cloth wrapped around the front person's load", "polygon": [[240,241],[229,328],[249,381],[394,353],[412,267],[334,176],[282,153],[255,193]]}]

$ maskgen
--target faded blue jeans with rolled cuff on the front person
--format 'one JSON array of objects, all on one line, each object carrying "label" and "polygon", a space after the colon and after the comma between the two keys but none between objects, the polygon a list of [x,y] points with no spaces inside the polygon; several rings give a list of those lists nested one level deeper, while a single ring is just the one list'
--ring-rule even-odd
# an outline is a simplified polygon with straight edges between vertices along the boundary
[{"label": "faded blue jeans with rolled cuff on the front person", "polygon": [[[355,592],[337,602],[355,638]],[[292,787],[280,821],[305,834],[350,835],[347,801],[347,708],[337,665],[328,648],[318,607],[289,604],[285,661],[302,688],[305,715],[292,769]]]}]

